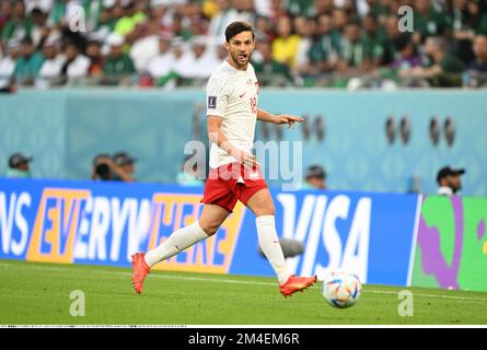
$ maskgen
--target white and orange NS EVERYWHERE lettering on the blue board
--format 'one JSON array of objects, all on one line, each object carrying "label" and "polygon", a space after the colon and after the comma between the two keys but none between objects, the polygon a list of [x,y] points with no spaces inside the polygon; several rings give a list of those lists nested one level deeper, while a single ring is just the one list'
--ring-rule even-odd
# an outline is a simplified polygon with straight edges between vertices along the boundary
[{"label": "white and orange NS EVERYWHERE lettering on the blue board", "polygon": [[[0,191],[2,258],[129,266],[131,254],[155,247],[201,210],[198,194],[138,194],[131,187],[134,197],[120,198],[97,194],[101,186],[16,192],[18,187]],[[243,217],[243,207],[235,208],[221,234],[158,268],[227,273]]]}]

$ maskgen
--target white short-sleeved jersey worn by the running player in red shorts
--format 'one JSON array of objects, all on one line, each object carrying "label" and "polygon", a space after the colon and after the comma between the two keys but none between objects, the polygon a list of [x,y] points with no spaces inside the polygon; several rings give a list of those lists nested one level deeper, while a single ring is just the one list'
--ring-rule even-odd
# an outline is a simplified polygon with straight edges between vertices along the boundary
[{"label": "white short-sleeved jersey worn by the running player in red shorts", "polygon": [[[258,82],[254,67],[239,70],[227,60],[211,74],[207,85],[207,116],[222,117],[221,131],[230,143],[245,152],[254,145],[257,121]],[[216,143],[210,149],[210,167],[236,162]]]}]

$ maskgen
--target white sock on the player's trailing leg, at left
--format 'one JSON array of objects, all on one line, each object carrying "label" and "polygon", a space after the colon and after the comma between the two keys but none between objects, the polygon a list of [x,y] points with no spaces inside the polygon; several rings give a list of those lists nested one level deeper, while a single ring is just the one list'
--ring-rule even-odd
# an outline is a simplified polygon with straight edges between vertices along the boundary
[{"label": "white sock on the player's trailing leg, at left", "polygon": [[208,235],[202,231],[198,221],[195,221],[189,226],[174,231],[164,243],[148,252],[146,254],[146,262],[149,267],[152,267],[159,261],[169,259],[207,237]]}]

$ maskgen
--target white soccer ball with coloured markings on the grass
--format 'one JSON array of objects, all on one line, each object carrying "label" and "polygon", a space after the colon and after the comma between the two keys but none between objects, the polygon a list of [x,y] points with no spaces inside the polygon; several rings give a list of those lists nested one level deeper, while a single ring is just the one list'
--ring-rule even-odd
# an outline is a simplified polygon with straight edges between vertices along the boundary
[{"label": "white soccer ball with coloured markings on the grass", "polygon": [[352,306],[361,292],[362,283],[358,277],[346,271],[333,271],[323,280],[323,298],[335,307]]}]

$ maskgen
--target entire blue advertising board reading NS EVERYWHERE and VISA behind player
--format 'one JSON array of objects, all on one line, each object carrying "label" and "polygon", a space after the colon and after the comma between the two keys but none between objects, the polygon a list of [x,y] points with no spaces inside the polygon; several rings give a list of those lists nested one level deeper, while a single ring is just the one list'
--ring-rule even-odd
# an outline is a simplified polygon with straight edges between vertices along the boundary
[{"label": "entire blue advertising board reading NS EVERYWHERE and VISA behind player", "polygon": [[[202,188],[154,184],[0,179],[0,258],[130,266],[201,212]],[[271,191],[280,236],[303,243],[292,272],[332,269],[363,282],[408,283],[416,195]],[[258,254],[253,213],[237,205],[219,232],[161,270],[274,276]]]}]

